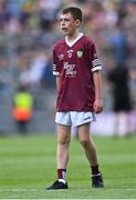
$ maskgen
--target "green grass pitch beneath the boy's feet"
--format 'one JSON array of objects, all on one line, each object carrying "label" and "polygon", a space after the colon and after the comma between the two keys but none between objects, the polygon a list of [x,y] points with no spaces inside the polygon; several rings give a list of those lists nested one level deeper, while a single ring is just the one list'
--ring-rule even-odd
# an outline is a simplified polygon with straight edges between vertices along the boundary
[{"label": "green grass pitch beneath the boy's feet", "polygon": [[136,138],[95,137],[105,181],[91,187],[90,168],[80,143],[72,139],[69,190],[46,191],[55,179],[54,136],[0,138],[0,199],[135,199]]}]

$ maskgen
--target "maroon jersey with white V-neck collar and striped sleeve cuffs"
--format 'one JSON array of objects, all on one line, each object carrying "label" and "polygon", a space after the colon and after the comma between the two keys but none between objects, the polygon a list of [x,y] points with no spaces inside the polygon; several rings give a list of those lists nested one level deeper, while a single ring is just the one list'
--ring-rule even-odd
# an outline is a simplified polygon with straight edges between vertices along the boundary
[{"label": "maroon jersey with white V-neck collar and striped sleeve cuffs", "polygon": [[93,72],[101,69],[95,44],[83,33],[72,43],[59,41],[53,49],[53,74],[60,77],[56,111],[93,111]]}]

